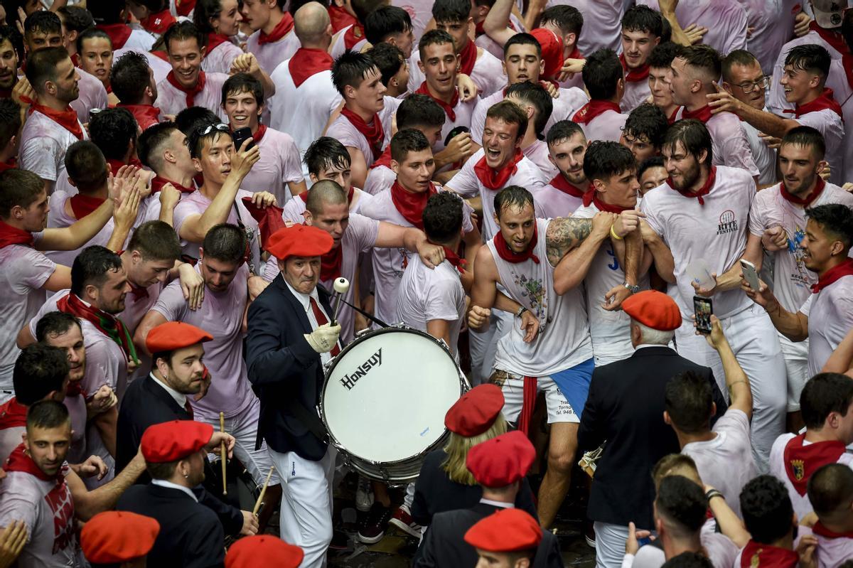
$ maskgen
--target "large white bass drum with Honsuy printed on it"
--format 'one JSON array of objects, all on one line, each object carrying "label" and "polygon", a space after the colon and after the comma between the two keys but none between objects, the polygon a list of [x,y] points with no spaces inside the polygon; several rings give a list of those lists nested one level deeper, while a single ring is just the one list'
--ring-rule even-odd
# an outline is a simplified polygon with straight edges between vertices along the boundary
[{"label": "large white bass drum with Honsuy printed on it", "polygon": [[367,333],[328,367],[320,414],[364,477],[408,484],[447,440],[444,414],[470,388],[444,342],[408,327]]}]

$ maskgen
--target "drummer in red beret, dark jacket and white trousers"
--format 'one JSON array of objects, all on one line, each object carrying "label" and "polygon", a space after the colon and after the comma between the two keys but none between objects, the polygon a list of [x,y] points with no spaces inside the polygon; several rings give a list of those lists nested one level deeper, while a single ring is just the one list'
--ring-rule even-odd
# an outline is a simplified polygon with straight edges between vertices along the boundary
[{"label": "drummer in red beret, dark jacket and white trousers", "polygon": [[267,250],[280,273],[249,306],[246,362],[261,402],[263,436],[282,484],[281,539],[302,548],[302,566],[322,566],[332,540],[334,449],[317,417],[323,364],[338,355],[328,294],[318,290],[332,236],[308,225],[279,229]]}]

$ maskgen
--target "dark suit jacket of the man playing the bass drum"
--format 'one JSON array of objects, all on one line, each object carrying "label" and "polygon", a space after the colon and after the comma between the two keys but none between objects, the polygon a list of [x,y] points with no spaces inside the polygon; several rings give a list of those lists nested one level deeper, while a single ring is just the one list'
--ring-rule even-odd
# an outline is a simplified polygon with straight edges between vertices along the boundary
[{"label": "dark suit jacket of the man playing the bass drum", "polygon": [[[328,294],[320,289],[317,294],[331,314]],[[308,316],[281,274],[249,304],[248,322],[246,364],[261,402],[258,434],[276,452],[293,451],[305,460],[319,461],[327,443],[293,415],[287,401],[295,398],[316,414],[324,380],[322,362],[305,340],[305,333],[313,331]]]}]

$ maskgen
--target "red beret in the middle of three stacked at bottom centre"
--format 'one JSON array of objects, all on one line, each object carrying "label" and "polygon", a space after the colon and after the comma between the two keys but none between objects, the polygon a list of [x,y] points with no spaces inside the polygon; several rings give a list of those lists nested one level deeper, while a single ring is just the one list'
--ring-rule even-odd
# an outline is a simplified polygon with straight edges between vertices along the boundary
[{"label": "red beret in the middle of three stacked at bottom centre", "polygon": [[506,487],[527,475],[536,449],[523,432],[507,432],[468,450],[465,465],[484,487]]}]

